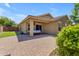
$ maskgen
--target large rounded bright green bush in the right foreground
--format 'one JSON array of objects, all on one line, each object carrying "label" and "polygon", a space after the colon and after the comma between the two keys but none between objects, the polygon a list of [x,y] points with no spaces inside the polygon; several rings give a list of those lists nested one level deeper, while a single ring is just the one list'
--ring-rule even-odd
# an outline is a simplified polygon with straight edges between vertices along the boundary
[{"label": "large rounded bright green bush in the right foreground", "polygon": [[79,24],[64,27],[58,34],[57,45],[60,55],[79,55]]}]

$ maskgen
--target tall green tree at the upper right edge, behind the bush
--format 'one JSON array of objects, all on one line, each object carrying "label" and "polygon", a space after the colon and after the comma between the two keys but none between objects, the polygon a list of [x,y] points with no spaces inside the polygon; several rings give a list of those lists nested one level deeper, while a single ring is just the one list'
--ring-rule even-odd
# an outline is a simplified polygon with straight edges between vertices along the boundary
[{"label": "tall green tree at the upper right edge, behind the bush", "polygon": [[75,24],[79,23],[79,3],[74,4],[74,10],[70,16]]}]

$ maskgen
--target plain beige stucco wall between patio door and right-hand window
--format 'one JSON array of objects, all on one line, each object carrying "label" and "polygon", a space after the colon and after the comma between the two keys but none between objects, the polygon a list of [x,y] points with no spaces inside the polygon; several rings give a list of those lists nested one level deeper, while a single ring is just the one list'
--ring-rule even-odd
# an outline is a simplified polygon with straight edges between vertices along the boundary
[{"label": "plain beige stucco wall between patio door and right-hand window", "polygon": [[50,22],[47,24],[43,24],[43,32],[48,34],[56,34],[58,33],[57,22]]}]

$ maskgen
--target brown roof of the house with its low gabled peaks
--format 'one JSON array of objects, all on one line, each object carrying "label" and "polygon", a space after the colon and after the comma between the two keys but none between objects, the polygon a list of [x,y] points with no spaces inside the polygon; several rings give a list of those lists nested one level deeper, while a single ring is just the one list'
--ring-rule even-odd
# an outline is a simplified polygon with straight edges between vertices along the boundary
[{"label": "brown roof of the house with its low gabled peaks", "polygon": [[21,23],[19,23],[19,25],[28,19],[34,19],[34,21],[39,21],[39,22],[51,22],[51,21],[59,21],[62,18],[68,18],[68,16],[63,15],[63,16],[59,16],[59,17],[54,18],[50,13],[39,15],[39,16],[28,15]]}]

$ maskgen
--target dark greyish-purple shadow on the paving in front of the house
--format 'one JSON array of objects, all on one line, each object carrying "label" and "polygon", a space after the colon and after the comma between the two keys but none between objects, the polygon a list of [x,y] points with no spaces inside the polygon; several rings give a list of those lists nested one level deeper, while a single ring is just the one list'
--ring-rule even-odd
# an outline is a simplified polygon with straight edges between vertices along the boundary
[{"label": "dark greyish-purple shadow on the paving in front of the house", "polygon": [[34,36],[32,36],[32,37],[29,36],[28,34],[20,34],[20,35],[18,35],[17,32],[16,32],[16,34],[17,34],[17,38],[18,38],[18,41],[19,41],[19,42],[27,41],[27,40],[32,40],[32,39],[37,39],[37,38],[55,36],[55,35],[49,35],[49,34],[45,34],[45,33],[34,34]]}]

